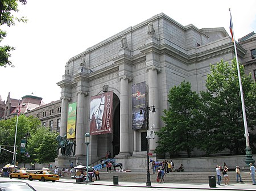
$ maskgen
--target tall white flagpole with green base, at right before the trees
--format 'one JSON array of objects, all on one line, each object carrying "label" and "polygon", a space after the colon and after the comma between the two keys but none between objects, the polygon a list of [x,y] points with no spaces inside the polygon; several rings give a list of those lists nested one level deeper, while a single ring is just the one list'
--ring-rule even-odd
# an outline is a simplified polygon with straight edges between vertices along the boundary
[{"label": "tall white flagpole with green base, at right before the trees", "polygon": [[234,38],[234,28],[233,28],[232,15],[231,15],[230,8],[229,8],[229,13],[230,13],[230,27],[231,27],[230,32],[232,33],[232,38],[233,38],[232,40],[234,43],[234,50],[235,50],[235,54],[236,54],[237,74],[238,74],[238,80],[239,80],[239,86],[240,86],[240,95],[241,95],[242,112],[243,112],[243,125],[245,126],[245,142],[246,142],[245,163],[247,165],[249,165],[250,163],[254,164],[255,160],[253,160],[253,155],[251,153],[250,142],[249,142],[249,133],[248,133],[248,128],[247,128],[247,120],[246,120],[246,112],[245,112],[245,101],[243,99],[243,88],[242,88],[242,82],[241,82],[240,67],[239,67],[239,62],[238,62],[238,57],[237,57],[237,46],[236,46],[236,40]]}]

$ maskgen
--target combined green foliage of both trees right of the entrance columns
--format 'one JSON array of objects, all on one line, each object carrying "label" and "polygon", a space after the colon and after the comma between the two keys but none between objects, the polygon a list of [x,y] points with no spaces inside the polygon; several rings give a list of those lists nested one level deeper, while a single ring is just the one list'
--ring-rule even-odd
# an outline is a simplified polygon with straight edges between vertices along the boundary
[{"label": "combined green foliage of both trees right of the entrance columns", "polygon": [[[189,82],[171,88],[168,94],[169,107],[162,119],[165,126],[156,134],[159,145],[155,152],[176,155],[199,148],[205,155],[222,151],[229,154],[245,154],[245,129],[243,125],[240,86],[236,59],[232,63],[221,60],[210,65],[206,91],[191,91]],[[246,75],[240,65],[243,97],[245,101],[247,128],[250,146],[254,149],[256,125],[256,83]]]}]

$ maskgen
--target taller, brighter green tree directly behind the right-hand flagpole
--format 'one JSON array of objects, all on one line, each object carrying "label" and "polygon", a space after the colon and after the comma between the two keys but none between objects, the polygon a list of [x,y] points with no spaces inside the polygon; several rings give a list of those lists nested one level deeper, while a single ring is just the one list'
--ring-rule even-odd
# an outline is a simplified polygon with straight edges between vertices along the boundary
[{"label": "taller, brighter green tree directly behind the right-hand flagpole", "polygon": [[[245,131],[236,59],[232,60],[232,64],[221,60],[217,65],[210,65],[210,70],[205,84],[207,91],[201,92],[204,120],[201,125],[200,148],[207,155],[226,149],[232,154],[245,154]],[[251,80],[251,75],[245,74],[242,65],[240,73],[250,131],[256,125],[256,84]],[[251,133],[250,137],[253,136]],[[250,139],[251,146],[254,140]]]}]

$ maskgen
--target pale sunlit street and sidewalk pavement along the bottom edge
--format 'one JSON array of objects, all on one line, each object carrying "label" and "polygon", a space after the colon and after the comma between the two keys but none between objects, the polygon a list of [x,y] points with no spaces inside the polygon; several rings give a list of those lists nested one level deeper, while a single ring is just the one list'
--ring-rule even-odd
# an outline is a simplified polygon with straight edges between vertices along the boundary
[{"label": "pale sunlit street and sidewalk pavement along the bottom edge", "polygon": [[[118,185],[113,185],[113,182],[106,182],[106,181],[97,181],[92,182],[89,184],[85,183],[75,183],[74,179],[64,179],[56,182],[51,181],[38,181],[38,180],[27,180],[27,179],[9,179],[0,177],[0,181],[23,181],[27,182],[31,186],[33,186],[37,191],[81,191],[81,190],[88,190],[88,191],[94,191],[94,190],[106,190],[106,191],[112,191],[112,190],[122,190],[122,191],[130,191],[130,190],[140,190],[140,191],[146,191],[146,190],[153,190],[153,191],[159,191],[159,190],[200,190],[200,191],[206,191],[209,189],[216,189],[216,190],[256,190],[255,185],[251,184],[230,184],[230,185],[221,185],[217,186],[216,188],[209,188],[209,184],[198,184],[198,183],[163,183],[163,184],[152,184],[152,187],[145,186],[145,183],[138,183],[138,182],[119,182]],[[18,191],[18,190],[16,190]]]}]

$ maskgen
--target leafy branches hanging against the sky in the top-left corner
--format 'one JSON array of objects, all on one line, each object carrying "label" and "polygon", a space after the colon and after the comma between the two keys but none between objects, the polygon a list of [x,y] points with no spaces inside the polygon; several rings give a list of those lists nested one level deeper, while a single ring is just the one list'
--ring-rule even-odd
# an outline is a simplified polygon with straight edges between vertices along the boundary
[{"label": "leafy branches hanging against the sky in the top-left corner", "polygon": [[[7,25],[8,27],[15,25],[15,20],[18,22],[27,22],[27,19],[24,17],[16,18],[11,14],[12,11],[18,12],[18,2],[21,2],[23,5],[27,3],[26,0],[0,0],[0,26]],[[0,29],[0,42],[6,37],[6,31]],[[13,67],[13,64],[9,60],[11,56],[10,51],[15,50],[13,46],[4,45],[0,46],[0,66],[10,65]]]}]

